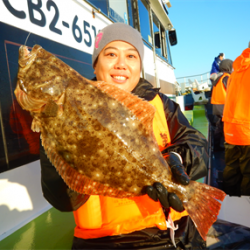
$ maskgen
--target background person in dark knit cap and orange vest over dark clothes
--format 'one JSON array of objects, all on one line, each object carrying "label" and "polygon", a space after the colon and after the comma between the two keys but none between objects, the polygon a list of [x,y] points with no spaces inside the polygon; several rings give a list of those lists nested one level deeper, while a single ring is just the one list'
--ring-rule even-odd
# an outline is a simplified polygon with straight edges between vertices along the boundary
[{"label": "background person in dark knit cap and orange vest over dark clothes", "polygon": [[220,73],[217,74],[217,77],[213,84],[211,104],[213,105],[213,115],[216,115],[217,119],[216,127],[214,131],[214,150],[224,150],[224,131],[223,131],[223,109],[226,100],[226,91],[227,91],[227,82],[232,73],[233,61],[230,59],[224,59],[221,61],[219,70]]}]

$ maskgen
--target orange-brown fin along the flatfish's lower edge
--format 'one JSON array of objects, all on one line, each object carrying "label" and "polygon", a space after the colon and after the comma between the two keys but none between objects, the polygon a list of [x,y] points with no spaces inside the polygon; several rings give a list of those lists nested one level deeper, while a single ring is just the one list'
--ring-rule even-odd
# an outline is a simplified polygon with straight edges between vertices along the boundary
[{"label": "orange-brown fin along the flatfish's lower edge", "polygon": [[132,193],[106,186],[79,173],[63,159],[53,146],[51,146],[53,142],[50,139],[45,139],[43,136],[41,136],[41,139],[47,157],[70,189],[81,194],[102,195],[114,198],[128,198],[134,196]]}]

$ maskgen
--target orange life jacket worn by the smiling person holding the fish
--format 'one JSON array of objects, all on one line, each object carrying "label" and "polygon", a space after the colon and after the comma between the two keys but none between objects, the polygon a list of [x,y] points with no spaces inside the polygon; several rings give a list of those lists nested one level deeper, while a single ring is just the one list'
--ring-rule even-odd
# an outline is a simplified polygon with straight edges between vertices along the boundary
[{"label": "orange life jacket worn by the smiling person holding the fish", "polygon": [[[153,131],[162,150],[170,143],[163,103],[159,95],[150,103],[156,108]],[[186,211],[178,213],[171,209],[173,221],[187,215]],[[74,211],[74,218],[76,222],[74,235],[83,239],[128,234],[150,227],[167,229],[160,202],[153,201],[148,195],[133,199],[92,195],[83,206]]]}]

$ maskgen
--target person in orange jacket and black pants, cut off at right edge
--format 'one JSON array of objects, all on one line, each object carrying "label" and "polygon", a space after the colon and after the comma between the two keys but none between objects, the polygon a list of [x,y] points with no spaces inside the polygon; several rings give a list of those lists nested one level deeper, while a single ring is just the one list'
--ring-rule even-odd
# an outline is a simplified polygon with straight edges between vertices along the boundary
[{"label": "person in orange jacket and black pants, cut off at right edge", "polygon": [[230,196],[250,195],[250,43],[233,62],[223,112],[225,162],[223,189]]}]

